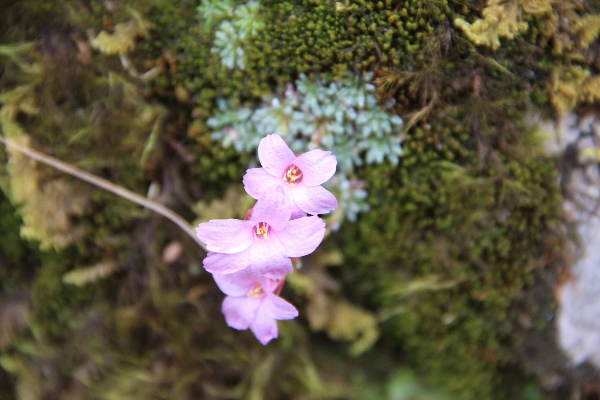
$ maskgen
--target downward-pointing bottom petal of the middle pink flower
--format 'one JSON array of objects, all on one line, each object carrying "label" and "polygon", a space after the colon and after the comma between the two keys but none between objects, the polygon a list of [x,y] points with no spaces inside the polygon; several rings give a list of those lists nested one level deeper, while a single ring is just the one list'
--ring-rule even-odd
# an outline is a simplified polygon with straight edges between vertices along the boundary
[{"label": "downward-pointing bottom petal of the middle pink flower", "polygon": [[256,241],[250,246],[250,268],[254,274],[271,279],[280,279],[294,271],[292,261],[274,234],[262,243]]}]

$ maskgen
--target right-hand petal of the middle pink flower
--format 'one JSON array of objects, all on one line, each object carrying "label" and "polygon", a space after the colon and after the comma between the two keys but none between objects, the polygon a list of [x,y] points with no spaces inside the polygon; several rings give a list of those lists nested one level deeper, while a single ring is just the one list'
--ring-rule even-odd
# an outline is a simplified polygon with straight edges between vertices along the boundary
[{"label": "right-hand petal of the middle pink flower", "polygon": [[287,257],[302,257],[319,246],[325,235],[325,222],[318,216],[292,219],[286,227],[277,231],[277,239],[286,249]]}]

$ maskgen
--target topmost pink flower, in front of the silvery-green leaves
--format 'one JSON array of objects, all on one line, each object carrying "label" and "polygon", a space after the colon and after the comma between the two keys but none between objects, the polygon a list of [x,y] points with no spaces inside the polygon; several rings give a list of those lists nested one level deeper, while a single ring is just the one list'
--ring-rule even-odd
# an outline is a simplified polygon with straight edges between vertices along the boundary
[{"label": "topmost pink flower, in front of the silvery-green leaves", "polygon": [[259,145],[262,168],[244,175],[244,187],[254,199],[261,199],[266,187],[283,187],[292,207],[292,219],[328,213],[337,207],[335,196],[321,184],[335,173],[337,160],[330,151],[311,150],[296,157],[280,136],[263,137]]}]

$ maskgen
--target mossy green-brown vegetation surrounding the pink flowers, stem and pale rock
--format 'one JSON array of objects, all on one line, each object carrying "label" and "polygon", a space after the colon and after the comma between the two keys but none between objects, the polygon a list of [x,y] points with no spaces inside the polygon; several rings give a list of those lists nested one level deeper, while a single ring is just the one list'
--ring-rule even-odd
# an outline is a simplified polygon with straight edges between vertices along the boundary
[{"label": "mossy green-brown vegetation surrounding the pink flowers, stem and pale rock", "polygon": [[20,0],[0,131],[243,218],[263,136],[328,149],[320,248],[263,347],[149,210],[0,146],[0,399],[582,399],[557,349],[569,229],[530,116],[600,97],[600,3]]}]

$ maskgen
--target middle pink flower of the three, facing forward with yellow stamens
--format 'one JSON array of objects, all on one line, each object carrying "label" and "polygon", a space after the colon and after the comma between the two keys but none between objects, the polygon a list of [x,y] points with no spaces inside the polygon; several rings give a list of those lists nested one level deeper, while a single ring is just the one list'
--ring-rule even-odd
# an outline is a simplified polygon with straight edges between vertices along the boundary
[{"label": "middle pink flower of the three, facing forward with yellow stamens", "polygon": [[210,251],[203,264],[211,273],[232,273],[250,266],[253,273],[278,279],[293,272],[289,257],[302,257],[317,248],[325,235],[318,216],[290,218],[281,187],[265,190],[250,221],[211,219],[198,225],[196,236]]}]

